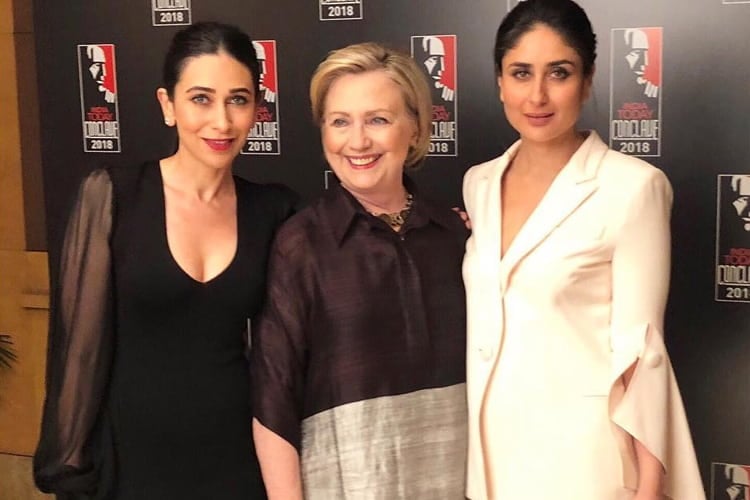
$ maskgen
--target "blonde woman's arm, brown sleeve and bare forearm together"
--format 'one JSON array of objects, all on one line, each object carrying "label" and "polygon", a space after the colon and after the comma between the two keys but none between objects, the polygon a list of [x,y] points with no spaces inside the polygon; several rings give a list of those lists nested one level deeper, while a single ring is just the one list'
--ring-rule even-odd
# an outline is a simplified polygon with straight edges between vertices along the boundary
[{"label": "blonde woman's arm, brown sleeve and bare forearm together", "polygon": [[253,436],[270,500],[301,500],[301,422],[310,259],[301,232],[282,226],[271,248],[266,300],[252,328]]}]

